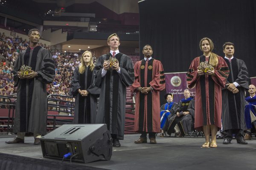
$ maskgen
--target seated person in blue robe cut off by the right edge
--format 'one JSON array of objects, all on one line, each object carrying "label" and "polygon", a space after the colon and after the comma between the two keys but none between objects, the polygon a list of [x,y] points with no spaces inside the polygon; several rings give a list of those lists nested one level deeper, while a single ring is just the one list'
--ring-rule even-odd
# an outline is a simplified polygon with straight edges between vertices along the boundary
[{"label": "seated person in blue robe cut off by the right edge", "polygon": [[244,118],[247,130],[245,131],[244,140],[251,140],[251,128],[252,124],[256,128],[256,87],[255,85],[249,85],[250,96],[245,98],[248,102],[245,105]]}]

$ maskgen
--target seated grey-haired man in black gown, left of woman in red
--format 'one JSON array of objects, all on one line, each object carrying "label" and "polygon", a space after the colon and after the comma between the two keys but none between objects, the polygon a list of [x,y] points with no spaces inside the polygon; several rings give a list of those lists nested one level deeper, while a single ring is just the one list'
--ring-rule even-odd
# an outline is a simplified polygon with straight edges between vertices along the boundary
[{"label": "seated grey-haired man in black gown, left of woman in red", "polygon": [[189,97],[189,89],[185,89],[183,94],[185,99],[181,99],[178,102],[174,115],[172,117],[170,117],[171,115],[169,116],[167,133],[171,135],[171,133],[176,131],[176,137],[183,137],[186,133],[191,132],[192,121],[195,118],[195,100]]}]

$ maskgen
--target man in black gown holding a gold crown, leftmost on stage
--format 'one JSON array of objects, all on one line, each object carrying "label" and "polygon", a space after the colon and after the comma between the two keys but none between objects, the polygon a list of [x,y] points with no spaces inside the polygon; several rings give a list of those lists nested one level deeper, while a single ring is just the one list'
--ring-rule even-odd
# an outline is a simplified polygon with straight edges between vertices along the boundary
[{"label": "man in black gown holding a gold crown, leftmost on stage", "polygon": [[[54,61],[49,51],[38,45],[38,29],[29,30],[29,48],[22,51],[14,65],[14,81],[17,87],[17,102],[13,132],[15,139],[8,144],[24,143],[25,133],[33,134],[34,144],[40,144],[46,134],[47,91],[46,85],[55,77]],[[28,75],[21,75],[22,65],[31,67]]]}]

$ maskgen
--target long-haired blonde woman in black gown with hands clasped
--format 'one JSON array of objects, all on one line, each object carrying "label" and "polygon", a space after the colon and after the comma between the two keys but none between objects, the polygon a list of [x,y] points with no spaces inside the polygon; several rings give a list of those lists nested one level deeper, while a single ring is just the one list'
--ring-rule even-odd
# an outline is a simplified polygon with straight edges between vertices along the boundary
[{"label": "long-haired blonde woman in black gown with hands clasped", "polygon": [[76,96],[74,123],[95,123],[97,113],[97,96],[100,89],[93,85],[93,57],[90,51],[85,51],[81,64],[75,69],[71,89]]}]

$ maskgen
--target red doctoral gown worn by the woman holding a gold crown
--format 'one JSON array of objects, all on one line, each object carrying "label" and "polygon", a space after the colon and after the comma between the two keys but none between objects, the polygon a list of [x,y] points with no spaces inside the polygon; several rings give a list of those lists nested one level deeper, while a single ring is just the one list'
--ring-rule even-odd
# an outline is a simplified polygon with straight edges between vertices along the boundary
[{"label": "red doctoral gown worn by the woman holding a gold crown", "polygon": [[221,88],[225,87],[229,68],[223,58],[218,57],[215,75],[198,76],[197,68],[205,62],[205,56],[196,57],[187,74],[189,88],[195,86],[195,129],[202,130],[204,125],[215,125],[221,128]]}]

